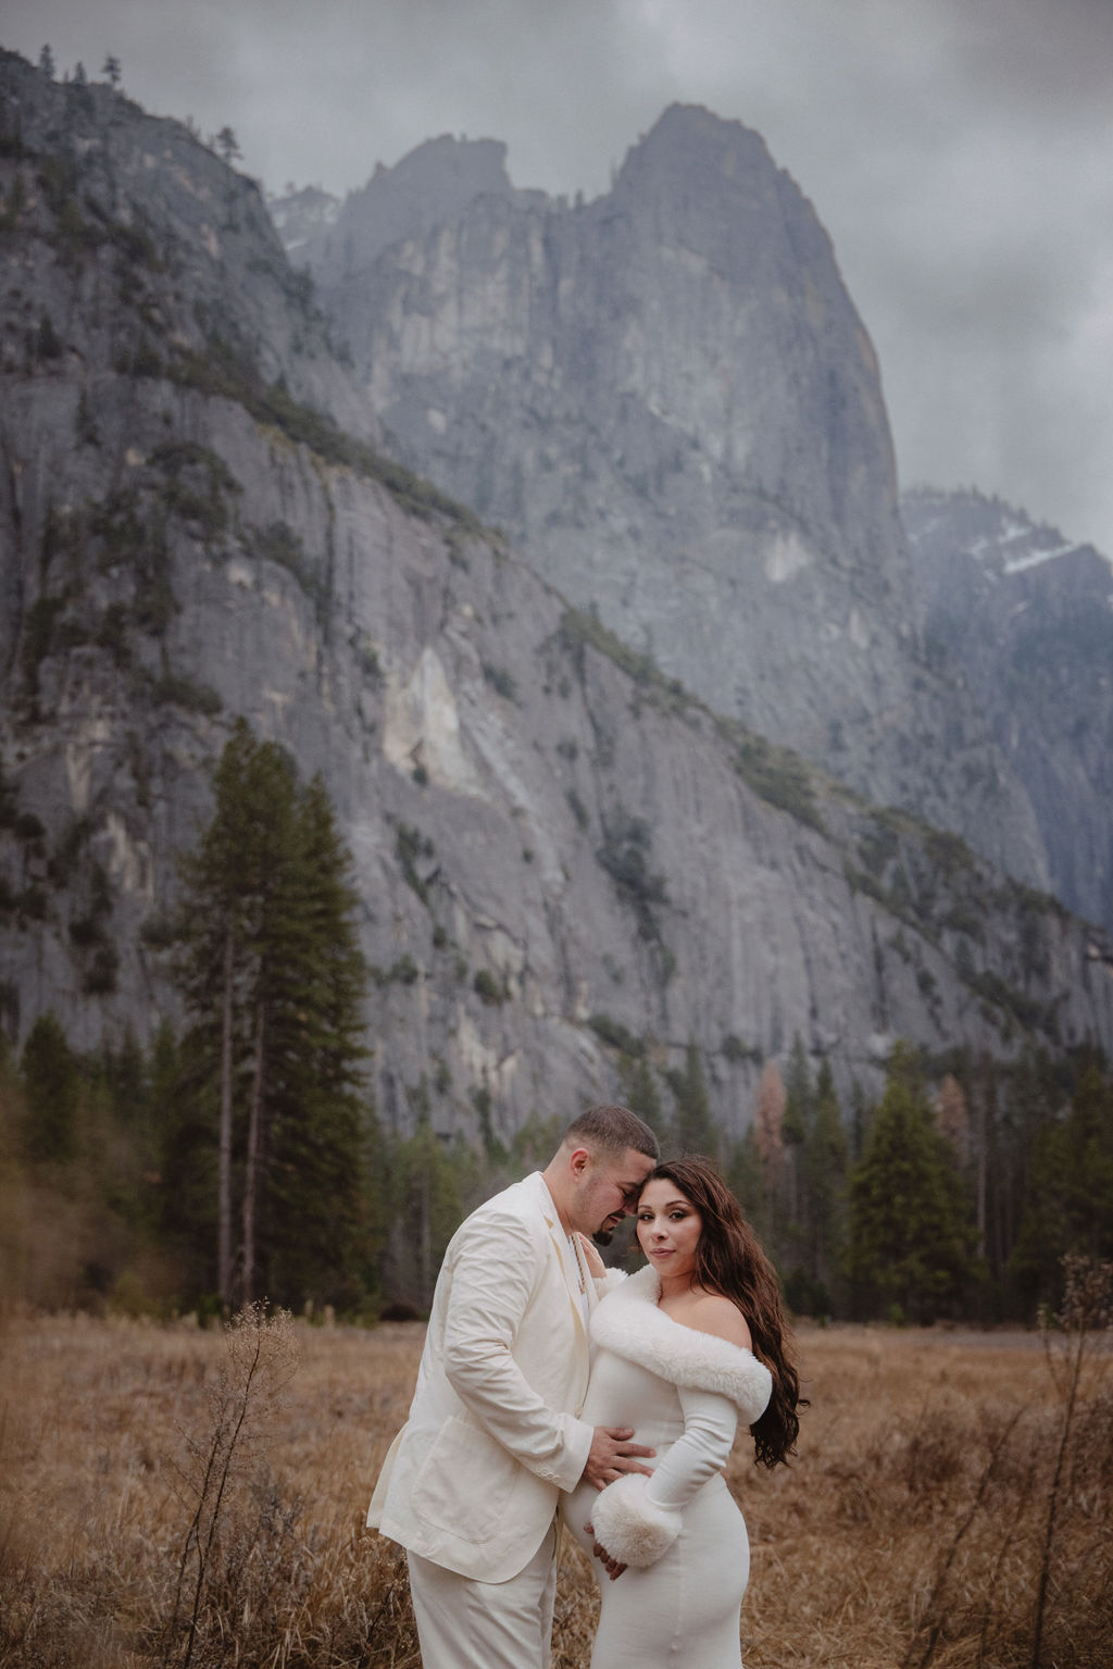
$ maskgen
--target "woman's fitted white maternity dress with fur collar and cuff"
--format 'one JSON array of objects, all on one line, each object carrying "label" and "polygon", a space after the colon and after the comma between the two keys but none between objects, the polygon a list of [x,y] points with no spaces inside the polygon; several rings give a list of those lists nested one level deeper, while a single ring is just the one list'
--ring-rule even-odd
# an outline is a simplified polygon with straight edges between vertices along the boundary
[{"label": "woman's fitted white maternity dress with fur collar and cuff", "polygon": [[657,1308],[654,1268],[609,1292],[591,1322],[592,1365],[582,1419],[632,1425],[656,1449],[652,1477],[602,1492],[581,1484],[561,1512],[581,1547],[596,1537],[627,1569],[611,1581],[597,1559],[602,1611],[592,1669],[739,1669],[739,1611],[749,1577],[746,1524],[723,1477],[739,1415],[764,1410],[771,1375],[749,1350],[696,1332]]}]

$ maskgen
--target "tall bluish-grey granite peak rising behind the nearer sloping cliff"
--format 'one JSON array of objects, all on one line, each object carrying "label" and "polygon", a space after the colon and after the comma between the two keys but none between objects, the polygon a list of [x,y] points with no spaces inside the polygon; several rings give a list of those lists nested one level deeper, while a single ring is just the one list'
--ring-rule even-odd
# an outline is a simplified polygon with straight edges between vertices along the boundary
[{"label": "tall bluish-grey granite peak rising behind the nearer sloping cliff", "polygon": [[1046,883],[1023,781],[923,653],[869,337],[756,134],[672,107],[574,204],[432,140],[295,257],[405,462],[716,711]]}]

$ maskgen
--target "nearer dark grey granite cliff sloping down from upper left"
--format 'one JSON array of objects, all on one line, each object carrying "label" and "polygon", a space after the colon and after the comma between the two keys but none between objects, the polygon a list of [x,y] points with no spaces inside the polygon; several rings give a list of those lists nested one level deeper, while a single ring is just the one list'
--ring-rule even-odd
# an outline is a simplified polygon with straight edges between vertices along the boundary
[{"label": "nearer dark grey granite cliff sloping down from upper left", "polygon": [[719,714],[387,459],[257,189],[185,129],[5,53],[0,190],[10,1038],[177,1018],[175,856],[244,714],[337,806],[390,1123],[506,1135],[691,1043],[733,1130],[796,1033],[844,1090],[896,1035],[1113,1043],[1101,935]]}]

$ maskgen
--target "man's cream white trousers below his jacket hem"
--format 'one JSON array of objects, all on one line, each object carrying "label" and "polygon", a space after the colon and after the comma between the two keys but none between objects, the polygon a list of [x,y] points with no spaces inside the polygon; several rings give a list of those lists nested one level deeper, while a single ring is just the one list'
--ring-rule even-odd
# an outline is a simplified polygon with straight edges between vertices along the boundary
[{"label": "man's cream white trousers below his jacket hem", "polygon": [[476,1582],[407,1554],[422,1669],[549,1669],[556,1527],[509,1582]]}]

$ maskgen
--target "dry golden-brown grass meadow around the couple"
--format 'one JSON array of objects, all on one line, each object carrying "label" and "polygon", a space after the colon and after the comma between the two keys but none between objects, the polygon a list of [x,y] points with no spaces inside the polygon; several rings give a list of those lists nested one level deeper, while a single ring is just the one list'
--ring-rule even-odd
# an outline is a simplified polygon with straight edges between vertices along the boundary
[{"label": "dry golden-brown grass meadow around the couple", "polygon": [[[729,1472],[748,1669],[1108,1669],[1101,1337],[1075,1382],[1035,1335],[803,1332],[798,1460],[759,1474],[739,1445]],[[362,1519],[419,1349],[407,1325],[8,1317],[0,1666],[415,1666],[404,1566]],[[554,1669],[586,1669],[592,1616],[566,1545]]]}]

